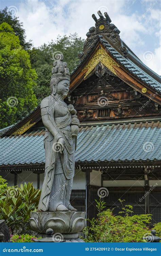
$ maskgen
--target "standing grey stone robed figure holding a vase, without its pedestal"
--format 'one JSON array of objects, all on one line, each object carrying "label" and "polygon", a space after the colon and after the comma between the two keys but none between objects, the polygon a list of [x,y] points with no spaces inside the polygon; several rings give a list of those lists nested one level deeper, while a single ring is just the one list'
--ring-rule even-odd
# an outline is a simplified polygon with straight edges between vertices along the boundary
[{"label": "standing grey stone robed figure holding a vase, without its pedestal", "polygon": [[74,176],[74,152],[79,120],[76,110],[64,102],[70,74],[63,55],[57,55],[50,82],[51,95],[41,101],[45,174],[38,211],[77,211],[70,204]]}]

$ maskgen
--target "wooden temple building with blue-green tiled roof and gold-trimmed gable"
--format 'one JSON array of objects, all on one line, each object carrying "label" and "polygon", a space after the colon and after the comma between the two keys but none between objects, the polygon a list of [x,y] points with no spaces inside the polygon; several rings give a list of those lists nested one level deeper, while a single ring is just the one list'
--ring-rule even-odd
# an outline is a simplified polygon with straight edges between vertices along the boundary
[{"label": "wooden temple building with blue-green tiled roof and gold-trimmed gable", "polygon": [[[117,214],[121,198],[134,214],[161,221],[161,84],[121,40],[108,14],[93,14],[80,63],[71,73],[67,104],[80,120],[75,153],[72,205],[97,213],[102,195]],[[40,106],[0,130],[0,175],[8,185],[33,182],[41,189],[45,129]]]}]

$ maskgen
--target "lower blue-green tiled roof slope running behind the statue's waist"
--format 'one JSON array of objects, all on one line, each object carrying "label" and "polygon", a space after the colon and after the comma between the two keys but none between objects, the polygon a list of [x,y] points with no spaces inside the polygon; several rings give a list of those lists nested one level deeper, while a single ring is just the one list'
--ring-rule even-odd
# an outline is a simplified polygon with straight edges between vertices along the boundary
[{"label": "lower blue-green tiled roof slope running behind the statue's waist", "polygon": [[[44,163],[44,130],[0,138],[0,165]],[[161,123],[81,127],[76,162],[161,160]]]}]

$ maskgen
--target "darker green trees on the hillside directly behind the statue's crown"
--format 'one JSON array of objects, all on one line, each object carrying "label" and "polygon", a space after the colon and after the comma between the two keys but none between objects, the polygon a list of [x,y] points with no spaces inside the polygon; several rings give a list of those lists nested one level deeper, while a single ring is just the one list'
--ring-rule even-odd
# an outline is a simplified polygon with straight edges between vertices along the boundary
[{"label": "darker green trees on the hillside directly behind the statue's crown", "polygon": [[84,39],[78,37],[76,33],[69,36],[58,36],[55,41],[51,43],[43,44],[39,48],[33,48],[29,50],[31,65],[35,68],[38,78],[37,87],[34,87],[34,92],[40,102],[43,97],[50,94],[50,79],[51,70],[53,67],[53,61],[56,58],[56,54],[63,53],[64,61],[68,63],[70,72],[79,63],[78,53],[82,51],[84,45]]}]

